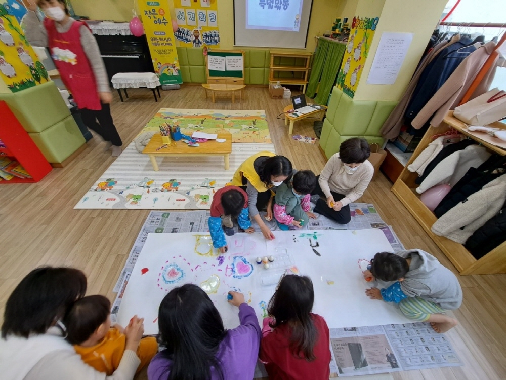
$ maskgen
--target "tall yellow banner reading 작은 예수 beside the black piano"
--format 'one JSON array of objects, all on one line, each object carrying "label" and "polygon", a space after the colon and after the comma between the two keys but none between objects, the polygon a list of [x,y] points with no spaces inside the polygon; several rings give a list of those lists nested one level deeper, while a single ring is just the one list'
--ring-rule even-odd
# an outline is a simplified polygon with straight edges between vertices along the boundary
[{"label": "tall yellow banner reading \uc791\uc740 \uc608\uc218 beside the black piano", "polygon": [[167,1],[138,0],[153,66],[162,85],[183,83]]}]

